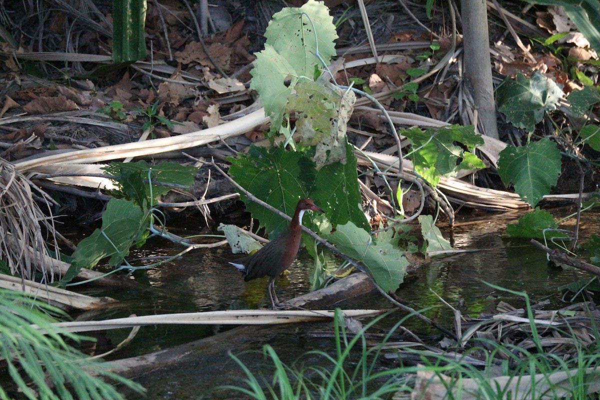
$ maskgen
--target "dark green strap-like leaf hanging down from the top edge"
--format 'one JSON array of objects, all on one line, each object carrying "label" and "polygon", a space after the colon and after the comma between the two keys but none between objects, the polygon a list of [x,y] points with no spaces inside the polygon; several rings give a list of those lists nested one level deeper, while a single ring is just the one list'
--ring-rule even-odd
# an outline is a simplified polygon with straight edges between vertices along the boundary
[{"label": "dark green strap-like leaf hanging down from the top edge", "polygon": [[113,62],[146,57],[146,0],[113,0]]}]

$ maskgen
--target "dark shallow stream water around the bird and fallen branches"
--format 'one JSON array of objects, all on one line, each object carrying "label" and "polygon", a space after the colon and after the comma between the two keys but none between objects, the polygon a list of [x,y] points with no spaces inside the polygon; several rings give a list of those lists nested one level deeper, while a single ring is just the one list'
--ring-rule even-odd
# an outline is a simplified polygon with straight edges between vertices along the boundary
[{"label": "dark shallow stream water around the bird and fallen branches", "polygon": [[[436,257],[425,264],[414,276],[398,289],[397,294],[415,309],[431,307],[424,312],[430,318],[451,328],[452,311],[442,305],[433,294],[458,307],[464,303],[464,315],[493,312],[500,300],[516,307],[523,306],[523,299],[511,293],[497,291],[484,281],[515,291],[526,292],[532,302],[549,299],[552,306],[565,306],[563,294],[558,287],[589,277],[575,269],[560,269],[548,266],[545,254],[529,243],[529,240],[509,239],[505,236],[506,223],[516,222],[518,215],[464,215],[457,218],[457,227],[452,233],[454,246],[471,249],[444,257]],[[476,218],[479,221],[473,222]],[[590,213],[583,221],[584,234],[598,231],[598,213]],[[445,237],[450,233],[444,230]],[[181,232],[176,232],[183,234]],[[188,229],[188,234],[197,233]],[[139,256],[173,254],[178,248],[161,239],[152,240],[153,249],[139,251]],[[83,314],[83,319],[106,319],[125,317],[130,314],[148,315],[173,312],[218,311],[225,309],[260,308],[270,305],[266,293],[267,279],[244,282],[241,274],[227,261],[235,258],[229,247],[197,250],[156,269],[138,271],[134,279],[140,282],[139,290],[98,291],[86,290],[96,296],[110,296],[120,300],[118,306],[109,310]],[[277,294],[280,300],[289,299],[308,291],[308,276],[312,268],[311,258],[301,251],[289,275],[278,278]],[[578,301],[581,299],[578,299]],[[390,308],[387,300],[379,294],[352,300],[348,306],[355,308]],[[385,332],[403,314],[395,313],[380,322],[377,329]],[[434,337],[436,330],[415,318],[406,327],[419,335]],[[231,326],[151,326],[142,327],[133,342],[114,354],[115,359],[140,356],[152,351],[181,345],[197,339],[226,332]],[[227,355],[229,350],[241,354],[254,367],[266,364],[258,353],[263,344],[271,344],[281,354],[284,362],[293,363],[302,353],[314,348],[334,348],[331,339],[310,339],[310,332],[331,332],[331,323],[304,324],[295,327],[253,327],[243,344],[227,342],[227,335],[214,336],[210,351],[200,357],[182,360],[177,366],[161,369],[137,377],[149,390],[149,399],[194,399],[206,393],[209,387],[218,384],[242,384],[241,369]],[[377,329],[375,332],[377,332]],[[106,333],[110,344],[116,345],[127,337],[128,329]],[[223,338],[223,340],[219,338]],[[266,367],[265,367],[266,368]],[[268,373],[267,373],[268,374]],[[134,396],[132,397],[134,398]],[[226,395],[209,395],[208,398],[229,398]],[[230,397],[235,398],[235,396]]]}]

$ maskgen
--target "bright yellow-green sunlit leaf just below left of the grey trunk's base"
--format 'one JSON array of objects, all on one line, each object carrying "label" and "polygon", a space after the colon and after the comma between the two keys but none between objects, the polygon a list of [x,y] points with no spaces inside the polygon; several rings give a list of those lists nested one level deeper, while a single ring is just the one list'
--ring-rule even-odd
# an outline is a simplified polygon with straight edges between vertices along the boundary
[{"label": "bright yellow-green sunlit leaf just below left of the grey trunk's base", "polygon": [[472,125],[450,125],[422,131],[405,129],[400,134],[407,137],[413,151],[409,154],[415,171],[431,185],[440,182],[440,176],[452,176],[460,169],[485,168],[483,161],[464,151],[453,142],[462,143],[469,151],[484,143]]}]

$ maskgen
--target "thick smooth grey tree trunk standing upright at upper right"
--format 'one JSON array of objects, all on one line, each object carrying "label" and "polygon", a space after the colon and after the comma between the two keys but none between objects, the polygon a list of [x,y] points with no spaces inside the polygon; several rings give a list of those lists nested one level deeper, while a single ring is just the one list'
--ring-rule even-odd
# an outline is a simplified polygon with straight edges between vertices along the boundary
[{"label": "thick smooth grey tree trunk standing upright at upper right", "polygon": [[485,0],[461,1],[464,75],[478,112],[479,132],[498,139]]}]

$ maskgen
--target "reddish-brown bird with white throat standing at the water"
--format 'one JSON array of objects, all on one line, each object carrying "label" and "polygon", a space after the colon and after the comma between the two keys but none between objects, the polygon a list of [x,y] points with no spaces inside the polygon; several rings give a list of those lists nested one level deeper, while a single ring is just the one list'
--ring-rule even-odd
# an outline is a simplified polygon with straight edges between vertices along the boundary
[{"label": "reddish-brown bird with white throat standing at the water", "polygon": [[325,212],[317,207],[313,203],[313,200],[299,200],[292,217],[292,222],[283,234],[271,240],[271,242],[254,254],[230,262],[230,264],[241,270],[244,275],[244,281],[250,281],[267,275],[271,278],[268,288],[273,308],[279,306],[279,300],[277,299],[277,294],[275,294],[275,278],[288,269],[296,259],[302,236],[301,219],[305,210]]}]

